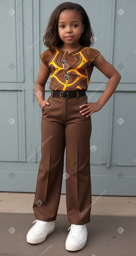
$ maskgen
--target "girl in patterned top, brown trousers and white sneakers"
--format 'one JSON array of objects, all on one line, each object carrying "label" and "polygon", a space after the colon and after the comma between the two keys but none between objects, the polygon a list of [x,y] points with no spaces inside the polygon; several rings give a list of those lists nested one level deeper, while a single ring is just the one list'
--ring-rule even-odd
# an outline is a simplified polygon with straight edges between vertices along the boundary
[{"label": "girl in patterned top, brown trousers and white sneakers", "polygon": [[[72,2],[58,5],[47,28],[43,42],[48,49],[40,55],[35,83],[35,97],[42,111],[42,157],[33,203],[36,223],[27,233],[27,242],[43,242],[54,231],[66,147],[66,207],[71,226],[65,246],[76,251],[86,244],[86,223],[90,221],[91,115],[109,100],[121,76],[98,50],[89,47],[94,34],[82,6]],[[86,90],[94,66],[109,82],[99,100],[88,103]],[[51,95],[46,101],[45,84],[50,74]]]}]

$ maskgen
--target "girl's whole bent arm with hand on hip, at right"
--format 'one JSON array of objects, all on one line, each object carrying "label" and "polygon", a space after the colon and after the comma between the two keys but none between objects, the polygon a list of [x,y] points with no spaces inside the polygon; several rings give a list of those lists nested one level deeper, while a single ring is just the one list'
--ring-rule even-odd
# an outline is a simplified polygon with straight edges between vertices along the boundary
[{"label": "girl's whole bent arm with hand on hip, at right", "polygon": [[105,105],[105,103],[110,99],[115,89],[117,88],[119,81],[121,79],[121,75],[109,62],[107,62],[101,53],[97,55],[97,57],[91,62],[96,68],[98,68],[107,78],[109,78],[109,82],[106,85],[106,88],[102,94],[102,96],[98,99],[96,103],[87,103],[85,105],[80,106],[80,108],[85,107],[79,113],[82,115],[86,115],[86,117],[91,114],[101,110],[101,108]]}]

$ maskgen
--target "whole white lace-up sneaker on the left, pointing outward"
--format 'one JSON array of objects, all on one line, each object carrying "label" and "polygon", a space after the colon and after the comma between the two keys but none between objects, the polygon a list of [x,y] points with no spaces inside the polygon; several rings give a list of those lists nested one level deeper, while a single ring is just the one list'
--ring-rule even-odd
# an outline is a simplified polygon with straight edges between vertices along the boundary
[{"label": "whole white lace-up sneaker on the left, pointing outward", "polygon": [[36,223],[29,230],[26,236],[26,240],[28,243],[41,243],[46,239],[46,236],[48,234],[54,231],[54,227],[55,227],[54,221],[48,221],[48,222],[41,221],[41,220],[35,220],[35,221]]}]

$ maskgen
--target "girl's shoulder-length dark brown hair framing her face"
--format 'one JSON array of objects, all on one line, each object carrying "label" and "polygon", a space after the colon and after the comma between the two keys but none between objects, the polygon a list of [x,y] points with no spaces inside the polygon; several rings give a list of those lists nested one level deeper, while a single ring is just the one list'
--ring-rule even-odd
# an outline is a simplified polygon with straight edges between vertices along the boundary
[{"label": "girl's shoulder-length dark brown hair framing her face", "polygon": [[85,9],[83,9],[81,5],[72,2],[61,3],[54,9],[53,13],[50,16],[49,23],[46,29],[46,31],[48,32],[45,33],[45,36],[43,37],[44,45],[46,45],[48,49],[54,53],[54,47],[63,44],[63,41],[58,34],[58,17],[62,10],[65,9],[75,10],[75,12],[78,12],[81,15],[82,25],[85,24],[84,31],[79,39],[79,44],[86,47],[93,45],[94,42],[91,41],[90,38],[94,36],[94,33],[90,25],[89,17]]}]

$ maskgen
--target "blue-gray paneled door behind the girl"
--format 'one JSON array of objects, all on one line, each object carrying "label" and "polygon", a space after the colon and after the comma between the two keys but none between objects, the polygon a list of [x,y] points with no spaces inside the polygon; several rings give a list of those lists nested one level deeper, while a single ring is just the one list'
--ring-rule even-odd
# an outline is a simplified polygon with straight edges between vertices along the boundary
[{"label": "blue-gray paneled door behind the girl", "polygon": [[[0,2],[0,191],[35,192],[41,160],[41,109],[34,96],[42,38],[51,12],[62,1]],[[74,2],[74,1],[73,1]],[[99,50],[121,74],[104,107],[91,115],[92,194],[136,195],[136,21],[135,1],[85,0],[83,5]],[[94,67],[88,102],[109,81]],[[45,99],[50,96],[50,77]],[[65,159],[64,159],[65,173]],[[62,194],[65,194],[63,178]]]}]

